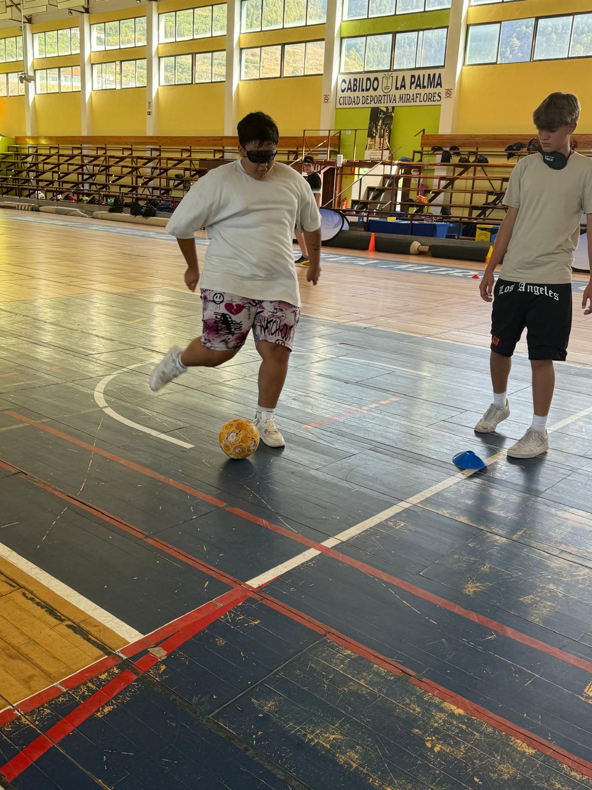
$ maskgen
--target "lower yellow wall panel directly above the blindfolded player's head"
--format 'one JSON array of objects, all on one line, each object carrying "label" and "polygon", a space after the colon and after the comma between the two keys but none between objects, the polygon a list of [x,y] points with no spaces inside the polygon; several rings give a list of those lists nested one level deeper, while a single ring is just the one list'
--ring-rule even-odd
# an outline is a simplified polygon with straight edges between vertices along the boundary
[{"label": "lower yellow wall panel directly above the blindfolded player's head", "polygon": [[323,77],[245,80],[238,85],[238,117],[261,110],[272,116],[279,134],[320,129]]}]

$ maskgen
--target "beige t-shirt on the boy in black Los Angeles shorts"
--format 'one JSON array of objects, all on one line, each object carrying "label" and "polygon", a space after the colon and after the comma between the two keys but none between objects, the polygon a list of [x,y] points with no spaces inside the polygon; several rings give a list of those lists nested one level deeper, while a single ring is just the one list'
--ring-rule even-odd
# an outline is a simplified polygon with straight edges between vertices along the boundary
[{"label": "beige t-shirt on the boy in black Los Angeles shorts", "polygon": [[571,282],[583,214],[592,214],[592,159],[573,152],[563,170],[540,154],[525,156],[510,176],[504,205],[519,209],[500,276],[520,283]]}]

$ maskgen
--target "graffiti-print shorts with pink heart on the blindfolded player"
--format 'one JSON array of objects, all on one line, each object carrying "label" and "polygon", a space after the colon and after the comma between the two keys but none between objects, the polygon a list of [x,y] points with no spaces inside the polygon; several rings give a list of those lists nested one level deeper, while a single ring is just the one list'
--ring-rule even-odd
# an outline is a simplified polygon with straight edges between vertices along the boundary
[{"label": "graffiti-print shorts with pink heart on the blindfolded player", "polygon": [[212,351],[241,348],[253,330],[255,343],[262,340],[292,350],[300,307],[288,302],[260,302],[245,296],[201,290],[204,329],[201,342]]}]

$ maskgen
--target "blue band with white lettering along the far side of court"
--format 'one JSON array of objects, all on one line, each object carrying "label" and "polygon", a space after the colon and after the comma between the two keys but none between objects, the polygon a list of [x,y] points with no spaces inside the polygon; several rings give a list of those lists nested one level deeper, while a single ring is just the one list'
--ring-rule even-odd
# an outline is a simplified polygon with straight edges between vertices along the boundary
[{"label": "blue band with white lettering along the far side of court", "polygon": [[[4,215],[1,215],[4,216]],[[73,222],[67,220],[62,216],[50,218],[49,216],[34,213],[31,216],[15,215],[6,216],[9,220],[20,220],[21,222],[41,223],[45,225],[61,225],[66,228],[74,228],[77,231],[99,231],[100,233],[111,233],[114,235],[133,236],[136,239],[155,239],[161,242],[174,242],[174,236],[167,233],[159,233],[157,231],[149,230],[148,228],[122,228],[119,225],[108,224],[107,221],[102,220],[104,224],[98,224],[101,220],[95,220],[97,224],[83,225],[81,222]],[[209,244],[208,239],[196,239],[197,246],[207,247]],[[300,253],[298,252],[298,255]],[[384,269],[388,272],[403,272],[413,274],[429,274],[436,277],[454,277],[456,280],[472,280],[474,275],[481,276],[483,269],[457,269],[453,265],[445,264],[431,264],[431,263],[414,263],[413,261],[389,261],[385,258],[358,258],[356,255],[336,254],[336,253],[321,253],[321,261],[326,263],[342,263],[348,266],[366,266],[369,269]],[[496,275],[498,276],[498,275]],[[586,289],[586,283],[574,280],[571,283],[571,288],[575,292],[583,292]]]}]

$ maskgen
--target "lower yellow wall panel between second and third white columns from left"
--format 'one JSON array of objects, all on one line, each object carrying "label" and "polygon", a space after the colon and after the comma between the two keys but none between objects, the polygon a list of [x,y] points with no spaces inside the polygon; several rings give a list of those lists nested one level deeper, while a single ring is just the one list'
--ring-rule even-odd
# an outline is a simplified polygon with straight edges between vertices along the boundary
[{"label": "lower yellow wall panel between second and third white columns from left", "polygon": [[146,88],[93,91],[91,101],[92,134],[146,134]]}]

